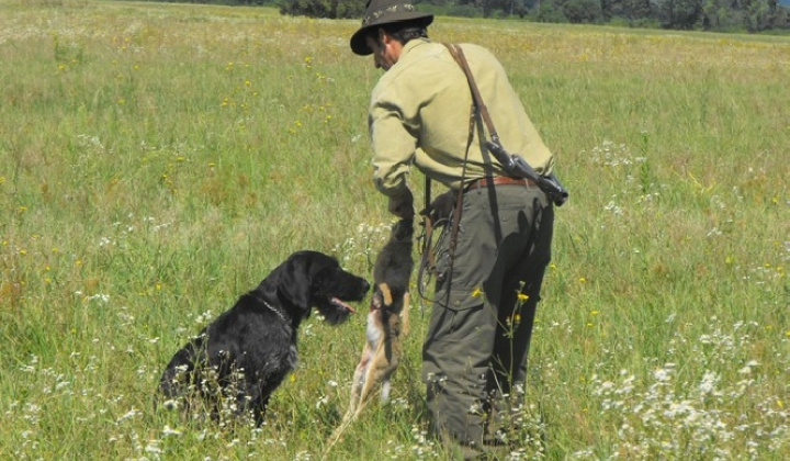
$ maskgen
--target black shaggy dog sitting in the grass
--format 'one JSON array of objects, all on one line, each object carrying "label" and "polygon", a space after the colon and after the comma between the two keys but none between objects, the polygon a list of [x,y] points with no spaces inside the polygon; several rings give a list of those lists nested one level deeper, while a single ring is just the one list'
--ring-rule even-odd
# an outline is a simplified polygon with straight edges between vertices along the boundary
[{"label": "black shaggy dog sitting in the grass", "polygon": [[274,390],[296,367],[296,331],[312,307],[337,325],[354,310],[369,283],[340,268],[335,258],[298,251],[181,350],[162,373],[167,406],[207,404],[216,419],[251,412],[258,425]]}]

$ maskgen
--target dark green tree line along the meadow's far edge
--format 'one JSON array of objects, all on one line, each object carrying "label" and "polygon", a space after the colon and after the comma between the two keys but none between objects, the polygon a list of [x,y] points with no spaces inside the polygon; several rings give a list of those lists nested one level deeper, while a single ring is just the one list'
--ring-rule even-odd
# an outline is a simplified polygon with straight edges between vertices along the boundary
[{"label": "dark green tree line along the meadow's far edge", "polygon": [[[189,3],[269,5],[279,8],[282,14],[328,19],[362,18],[366,2],[366,0],[180,1]],[[449,16],[521,18],[535,22],[613,24],[645,29],[661,27],[715,32],[790,31],[790,0],[413,1],[421,11]]]}]

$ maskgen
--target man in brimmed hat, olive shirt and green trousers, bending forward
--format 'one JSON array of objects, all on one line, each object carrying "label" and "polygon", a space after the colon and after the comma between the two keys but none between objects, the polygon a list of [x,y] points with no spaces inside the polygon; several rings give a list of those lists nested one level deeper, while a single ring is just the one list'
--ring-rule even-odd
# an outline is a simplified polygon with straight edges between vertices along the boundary
[{"label": "man in brimmed hat, olive shirt and green trousers, bending forward", "polygon": [[[458,231],[447,225],[439,239],[422,379],[432,429],[474,458],[503,441],[507,397],[523,393],[554,212],[537,185],[509,178],[486,151],[484,125],[479,119],[470,124],[473,99],[463,70],[447,46],[428,38],[433,16],[404,1],[370,0],[350,44],[385,70],[371,97],[369,127],[374,183],[390,212],[414,215],[411,165],[463,194]],[[501,144],[538,173],[551,173],[553,156],[501,65],[483,47],[461,48]]]}]

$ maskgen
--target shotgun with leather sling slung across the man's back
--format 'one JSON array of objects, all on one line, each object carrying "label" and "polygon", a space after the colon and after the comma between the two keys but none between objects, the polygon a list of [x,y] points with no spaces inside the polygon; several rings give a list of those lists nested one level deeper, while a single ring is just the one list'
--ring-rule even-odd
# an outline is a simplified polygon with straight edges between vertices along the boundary
[{"label": "shotgun with leather sling slung across the man's back", "polygon": [[567,190],[565,190],[554,173],[549,176],[538,175],[538,171],[535,171],[534,168],[532,168],[527,160],[523,159],[523,157],[510,154],[505,149],[505,147],[503,147],[499,142],[499,135],[497,135],[497,132],[494,128],[494,122],[492,122],[490,115],[488,115],[488,109],[483,102],[483,97],[477,89],[477,83],[475,83],[474,77],[472,77],[472,70],[469,68],[463,49],[454,44],[444,45],[466,75],[466,80],[469,81],[470,89],[472,90],[474,104],[477,108],[477,111],[479,111],[479,114],[488,128],[488,134],[490,135],[490,140],[486,139],[485,142],[488,151],[494,155],[508,175],[514,178],[532,180],[535,184],[538,184],[540,190],[546,194],[549,200],[551,200],[556,206],[562,206],[568,199]]}]

